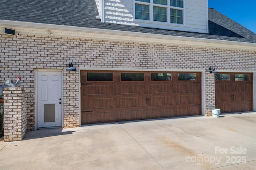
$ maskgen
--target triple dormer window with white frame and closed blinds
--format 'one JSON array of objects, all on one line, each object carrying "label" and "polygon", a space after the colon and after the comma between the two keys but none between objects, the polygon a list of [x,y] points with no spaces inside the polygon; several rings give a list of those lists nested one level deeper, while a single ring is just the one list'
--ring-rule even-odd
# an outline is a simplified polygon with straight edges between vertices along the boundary
[{"label": "triple dormer window with white frame and closed blinds", "polygon": [[183,24],[183,0],[135,0],[135,19]]}]

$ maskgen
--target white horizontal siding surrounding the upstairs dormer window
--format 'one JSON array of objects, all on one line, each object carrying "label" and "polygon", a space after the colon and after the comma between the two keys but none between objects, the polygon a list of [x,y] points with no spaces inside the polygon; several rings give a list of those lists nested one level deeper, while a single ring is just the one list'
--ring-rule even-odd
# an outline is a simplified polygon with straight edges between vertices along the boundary
[{"label": "white horizontal siding surrounding the upstairs dormer window", "polygon": [[103,22],[207,33],[207,5],[207,0],[184,0],[184,24],[179,25],[134,20],[134,0],[104,0]]}]

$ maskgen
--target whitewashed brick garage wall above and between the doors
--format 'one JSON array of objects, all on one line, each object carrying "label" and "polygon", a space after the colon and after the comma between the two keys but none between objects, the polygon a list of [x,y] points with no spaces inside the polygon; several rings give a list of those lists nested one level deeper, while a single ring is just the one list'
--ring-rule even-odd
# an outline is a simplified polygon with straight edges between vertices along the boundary
[{"label": "whitewashed brick garage wall above and between the doors", "polygon": [[206,70],[206,115],[215,105],[216,70],[255,71],[256,52],[152,43],[56,38],[47,36],[8,36],[0,34],[0,85],[22,76],[21,87],[28,97],[28,130],[34,130],[35,69],[64,70],[64,127],[79,125],[79,71],[74,67]]}]

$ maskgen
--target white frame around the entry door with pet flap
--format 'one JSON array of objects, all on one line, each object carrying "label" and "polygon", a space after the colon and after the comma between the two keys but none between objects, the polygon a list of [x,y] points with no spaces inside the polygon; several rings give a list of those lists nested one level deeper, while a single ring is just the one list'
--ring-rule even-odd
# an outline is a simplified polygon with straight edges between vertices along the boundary
[{"label": "white frame around the entry door with pet flap", "polygon": [[63,128],[63,126],[64,126],[64,117],[63,117],[63,113],[64,113],[64,105],[63,105],[63,70],[61,70],[61,69],[35,69],[35,74],[34,74],[34,78],[35,78],[35,100],[34,100],[34,102],[35,102],[35,111],[34,111],[34,113],[35,113],[35,115],[34,115],[34,129],[36,130],[37,128],[38,128],[38,122],[37,122],[37,117],[38,117],[38,113],[37,113],[37,109],[38,109],[38,103],[37,103],[37,97],[38,97],[38,94],[37,94],[37,90],[38,90],[38,86],[37,86],[37,75],[38,75],[38,72],[40,72],[40,71],[48,71],[48,72],[61,72],[61,98],[62,98],[62,108],[61,108],[61,111],[62,111],[62,114],[61,114],[61,122],[62,122],[62,128]]}]

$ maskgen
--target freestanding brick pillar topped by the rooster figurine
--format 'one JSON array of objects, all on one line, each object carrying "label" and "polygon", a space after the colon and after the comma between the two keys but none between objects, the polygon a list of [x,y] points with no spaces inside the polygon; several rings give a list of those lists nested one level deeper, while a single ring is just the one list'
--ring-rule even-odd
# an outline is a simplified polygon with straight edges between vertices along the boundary
[{"label": "freestanding brick pillar topped by the rooster figurine", "polygon": [[22,140],[27,131],[24,88],[4,88],[4,142]]}]

